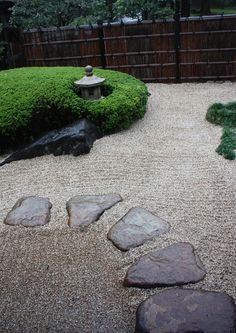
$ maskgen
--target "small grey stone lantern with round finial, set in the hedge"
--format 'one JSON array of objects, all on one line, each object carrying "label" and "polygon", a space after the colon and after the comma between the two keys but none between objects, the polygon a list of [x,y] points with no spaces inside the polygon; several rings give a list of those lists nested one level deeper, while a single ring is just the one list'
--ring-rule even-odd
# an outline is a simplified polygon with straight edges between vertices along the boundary
[{"label": "small grey stone lantern with round finial, set in the hedge", "polygon": [[77,89],[81,91],[81,97],[84,99],[97,100],[102,97],[101,86],[105,79],[93,75],[93,67],[85,67],[86,75],[78,81],[74,82]]}]

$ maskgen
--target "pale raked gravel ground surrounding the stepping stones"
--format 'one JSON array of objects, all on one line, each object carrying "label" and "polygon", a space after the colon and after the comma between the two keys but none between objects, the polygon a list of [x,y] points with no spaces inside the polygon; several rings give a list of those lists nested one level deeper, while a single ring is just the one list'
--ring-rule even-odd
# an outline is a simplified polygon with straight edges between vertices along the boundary
[{"label": "pale raked gravel ground surrounding the stepping stones", "polygon": [[[194,245],[207,270],[191,288],[236,298],[236,161],[217,155],[222,129],[205,120],[209,105],[236,99],[236,83],[148,89],[145,117],[96,141],[89,155],[45,156],[0,168],[0,332],[133,332],[138,304],[161,288],[123,287],[128,267],[179,241]],[[107,193],[124,201],[87,232],[68,227],[67,200]],[[15,202],[28,195],[50,198],[50,223],[4,225]],[[168,221],[171,230],[122,253],[106,235],[135,206]]]}]

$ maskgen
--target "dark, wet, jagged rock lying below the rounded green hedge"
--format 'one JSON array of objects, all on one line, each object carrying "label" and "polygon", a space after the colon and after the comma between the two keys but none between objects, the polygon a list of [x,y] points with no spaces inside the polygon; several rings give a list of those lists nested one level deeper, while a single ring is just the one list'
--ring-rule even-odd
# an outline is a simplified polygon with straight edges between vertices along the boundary
[{"label": "dark, wet, jagged rock lying below the rounded green hedge", "polygon": [[59,130],[51,131],[23,149],[14,152],[0,166],[13,161],[34,158],[48,154],[78,156],[88,154],[93,142],[101,138],[96,126],[87,119],[81,119],[74,124]]}]

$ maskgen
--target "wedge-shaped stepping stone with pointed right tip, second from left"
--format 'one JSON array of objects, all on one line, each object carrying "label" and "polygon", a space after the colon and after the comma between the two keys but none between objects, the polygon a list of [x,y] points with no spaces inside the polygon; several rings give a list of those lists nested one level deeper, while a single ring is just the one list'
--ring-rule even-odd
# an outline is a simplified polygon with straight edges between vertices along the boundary
[{"label": "wedge-shaped stepping stone with pointed right tip, second from left", "polygon": [[81,230],[97,221],[103,212],[122,201],[119,194],[79,195],[66,203],[69,214],[68,224]]}]

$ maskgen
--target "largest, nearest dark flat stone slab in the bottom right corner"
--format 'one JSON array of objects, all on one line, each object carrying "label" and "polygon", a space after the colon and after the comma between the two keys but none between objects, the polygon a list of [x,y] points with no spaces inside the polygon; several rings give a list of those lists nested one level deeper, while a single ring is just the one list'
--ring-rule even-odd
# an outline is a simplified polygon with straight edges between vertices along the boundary
[{"label": "largest, nearest dark flat stone slab in the bottom right corner", "polygon": [[135,333],[235,333],[236,307],[225,293],[169,289],[136,313]]}]

